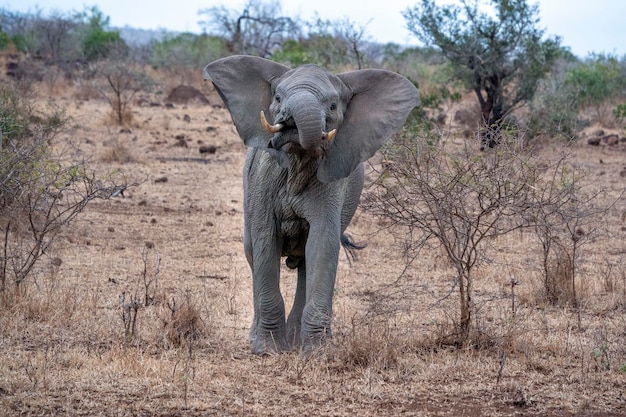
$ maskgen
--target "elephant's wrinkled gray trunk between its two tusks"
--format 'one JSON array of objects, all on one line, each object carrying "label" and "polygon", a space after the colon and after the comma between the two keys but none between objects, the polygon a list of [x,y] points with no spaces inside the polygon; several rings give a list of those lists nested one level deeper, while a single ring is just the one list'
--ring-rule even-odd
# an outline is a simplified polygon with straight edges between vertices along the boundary
[{"label": "elephant's wrinkled gray trunk between its two tusks", "polygon": [[324,133],[326,115],[319,100],[313,94],[303,92],[293,96],[290,101],[300,146],[305,151],[318,155],[322,140],[328,135]]}]

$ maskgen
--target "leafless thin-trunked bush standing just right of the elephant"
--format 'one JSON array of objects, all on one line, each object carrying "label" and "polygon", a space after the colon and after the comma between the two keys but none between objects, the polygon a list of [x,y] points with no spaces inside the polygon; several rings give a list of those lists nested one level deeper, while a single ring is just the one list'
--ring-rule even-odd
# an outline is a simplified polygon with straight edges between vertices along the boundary
[{"label": "leafless thin-trunked bush standing just right of the elephant", "polygon": [[458,343],[470,338],[474,270],[489,261],[494,241],[522,227],[515,221],[534,182],[517,143],[482,153],[429,146],[405,136],[384,150],[387,162],[366,198],[366,209],[405,230],[407,251],[435,239],[450,260],[458,288]]}]

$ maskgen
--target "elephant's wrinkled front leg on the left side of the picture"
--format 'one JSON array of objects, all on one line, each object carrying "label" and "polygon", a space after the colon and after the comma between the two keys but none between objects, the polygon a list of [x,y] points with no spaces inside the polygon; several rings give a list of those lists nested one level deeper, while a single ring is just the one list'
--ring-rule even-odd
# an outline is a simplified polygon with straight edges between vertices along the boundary
[{"label": "elephant's wrinkled front leg on the left side of the picture", "polygon": [[249,242],[254,298],[250,348],[256,354],[288,350],[285,303],[280,294],[280,252],[276,239],[266,234],[253,236]]}]

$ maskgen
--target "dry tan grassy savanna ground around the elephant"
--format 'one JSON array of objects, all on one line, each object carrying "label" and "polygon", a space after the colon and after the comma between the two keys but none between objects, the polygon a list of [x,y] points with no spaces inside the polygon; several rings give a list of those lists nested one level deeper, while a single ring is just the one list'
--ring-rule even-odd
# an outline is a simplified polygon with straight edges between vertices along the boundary
[{"label": "dry tan grassy savanna ground around the elephant", "polygon": [[[626,415],[621,200],[581,249],[576,309],[542,301],[532,235],[503,239],[477,272],[478,336],[464,348],[441,343],[458,310],[443,254],[425,249],[405,270],[402,241],[359,211],[348,231],[368,246],[340,256],[332,346],[252,355],[246,149],[219,99],[196,87],[210,104],[145,96],[125,130],[105,102],[42,88],[41,103],[72,116],[77,156],[138,185],[88,205],[0,311],[0,415]],[[580,140],[574,155],[595,186],[622,192],[626,144]],[[289,305],[285,267],[282,289]],[[134,331],[122,294],[137,300]]]}]

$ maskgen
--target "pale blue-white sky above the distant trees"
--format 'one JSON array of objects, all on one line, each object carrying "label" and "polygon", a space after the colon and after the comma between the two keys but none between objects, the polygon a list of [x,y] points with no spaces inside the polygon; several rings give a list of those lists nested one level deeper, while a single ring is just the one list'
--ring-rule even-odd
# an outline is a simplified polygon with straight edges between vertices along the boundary
[{"label": "pale blue-white sky above the distant trees", "polygon": [[[283,15],[310,19],[319,13],[322,19],[348,17],[365,26],[369,40],[400,45],[420,45],[406,29],[402,11],[419,0],[283,0]],[[439,4],[455,0],[437,0]],[[111,18],[111,26],[143,29],[168,29],[201,33],[198,11],[216,5],[243,10],[246,0],[0,0],[0,7],[28,12],[39,7],[44,14],[51,10],[82,11],[97,5]],[[626,56],[626,1],[624,0],[530,0],[539,5],[539,27],[546,35],[558,35],[580,58],[590,53]],[[146,7],[146,4],[149,5]],[[367,6],[365,6],[367,4]]]}]

